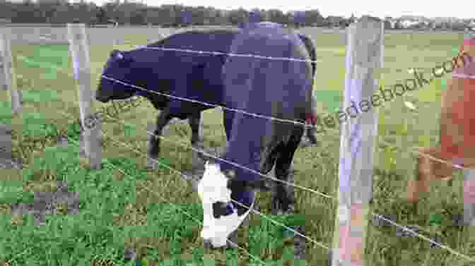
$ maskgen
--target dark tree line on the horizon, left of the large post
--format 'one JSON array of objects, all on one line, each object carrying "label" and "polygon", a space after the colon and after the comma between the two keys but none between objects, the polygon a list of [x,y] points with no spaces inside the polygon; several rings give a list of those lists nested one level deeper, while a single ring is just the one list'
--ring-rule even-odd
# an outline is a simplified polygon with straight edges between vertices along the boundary
[{"label": "dark tree line on the horizon, left of the large post", "polygon": [[318,9],[284,13],[278,9],[243,8],[225,11],[205,6],[180,4],[147,6],[140,3],[112,1],[102,6],[81,1],[31,0],[12,3],[0,0],[0,18],[11,23],[86,23],[119,25],[160,25],[186,27],[189,25],[239,25],[252,19],[268,20],[293,27],[346,27],[351,18],[329,16],[324,18]]}]

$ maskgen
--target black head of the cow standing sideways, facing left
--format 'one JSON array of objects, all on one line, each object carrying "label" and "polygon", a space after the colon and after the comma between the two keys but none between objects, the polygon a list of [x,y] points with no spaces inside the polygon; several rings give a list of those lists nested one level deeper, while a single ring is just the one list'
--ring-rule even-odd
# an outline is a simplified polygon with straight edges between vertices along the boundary
[{"label": "black head of the cow standing sideways, facing left", "polygon": [[[134,69],[134,59],[130,52],[113,50],[102,71],[95,99],[99,102],[109,102],[113,99],[128,99],[136,93],[136,85],[140,71]],[[104,77],[105,76],[105,77]],[[120,82],[117,82],[119,80]],[[124,84],[127,83],[127,84]]]}]

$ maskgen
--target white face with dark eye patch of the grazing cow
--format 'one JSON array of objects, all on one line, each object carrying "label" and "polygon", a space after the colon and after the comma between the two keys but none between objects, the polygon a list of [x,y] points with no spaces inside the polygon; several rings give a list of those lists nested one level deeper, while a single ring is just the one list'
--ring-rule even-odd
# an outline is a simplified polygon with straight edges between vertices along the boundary
[{"label": "white face with dark eye patch of the grazing cow", "polygon": [[[230,204],[228,178],[221,172],[219,164],[206,162],[203,178],[198,183],[198,195],[203,206],[201,237],[211,241],[214,248],[225,246],[226,239],[238,229],[250,210],[238,216],[238,210]],[[226,205],[231,207],[233,212],[228,215],[218,214],[217,212],[225,210]]]}]

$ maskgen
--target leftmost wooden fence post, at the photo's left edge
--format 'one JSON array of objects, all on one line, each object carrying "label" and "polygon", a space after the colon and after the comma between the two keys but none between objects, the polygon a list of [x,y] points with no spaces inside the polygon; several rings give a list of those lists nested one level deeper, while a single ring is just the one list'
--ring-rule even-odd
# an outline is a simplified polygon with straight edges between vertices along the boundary
[{"label": "leftmost wooden fence post, at the photo's left edge", "polygon": [[13,56],[11,55],[10,42],[11,29],[2,28],[0,31],[0,64],[2,65],[3,90],[8,90],[11,96],[11,112],[18,114],[21,112],[21,92],[16,86],[16,74],[13,68]]}]

